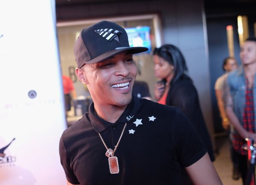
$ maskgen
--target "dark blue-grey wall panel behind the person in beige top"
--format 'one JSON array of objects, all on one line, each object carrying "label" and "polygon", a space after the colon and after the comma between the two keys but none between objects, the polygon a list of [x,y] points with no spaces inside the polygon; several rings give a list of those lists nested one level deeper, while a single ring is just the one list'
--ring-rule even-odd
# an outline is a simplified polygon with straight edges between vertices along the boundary
[{"label": "dark blue-grey wall panel behind the person in beige top", "polygon": [[[237,33],[237,18],[208,18],[207,35],[209,45],[209,66],[210,66],[210,86],[212,100],[212,115],[215,133],[223,132],[221,117],[215,97],[214,85],[217,78],[224,74],[222,63],[228,57],[227,31],[226,26],[232,25],[234,32],[234,52],[235,58],[239,61],[239,36]],[[240,64],[240,61],[239,61]]]}]

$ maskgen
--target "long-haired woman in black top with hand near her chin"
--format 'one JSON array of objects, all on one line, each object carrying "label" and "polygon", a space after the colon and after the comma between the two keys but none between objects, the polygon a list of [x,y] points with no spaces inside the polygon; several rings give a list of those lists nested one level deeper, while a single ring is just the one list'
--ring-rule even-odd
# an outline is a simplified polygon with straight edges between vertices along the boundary
[{"label": "long-haired woman in black top with hand near her chin", "polygon": [[[212,142],[201,112],[197,90],[186,74],[186,61],[180,50],[171,44],[155,48],[154,73],[162,79],[155,85],[155,98],[160,104],[180,109],[192,122],[207,147],[211,161],[214,161]],[[184,171],[183,185],[192,184]]]}]

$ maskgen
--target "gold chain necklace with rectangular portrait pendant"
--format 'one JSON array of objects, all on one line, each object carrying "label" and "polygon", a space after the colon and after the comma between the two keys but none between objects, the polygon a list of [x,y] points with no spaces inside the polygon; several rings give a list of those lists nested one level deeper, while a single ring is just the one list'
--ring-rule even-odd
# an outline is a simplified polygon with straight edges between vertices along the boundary
[{"label": "gold chain necklace with rectangular portrait pendant", "polygon": [[120,135],[120,137],[119,137],[118,142],[116,143],[116,146],[115,146],[114,150],[112,150],[111,148],[108,148],[108,147],[107,147],[106,143],[104,142],[102,136],[101,136],[100,133],[99,133],[99,137],[100,137],[100,139],[102,140],[103,145],[104,145],[105,148],[107,149],[107,152],[105,153],[105,156],[108,157],[109,171],[110,171],[111,174],[113,174],[113,173],[119,173],[118,159],[117,159],[116,156],[114,156],[114,153],[116,152],[116,149],[117,149],[117,147],[118,147],[118,145],[119,145],[119,143],[120,143],[120,141],[121,141],[121,138],[122,138],[122,135],[123,135],[123,133],[124,133],[124,131],[125,131],[126,125],[127,125],[127,123],[125,123],[125,126],[123,127],[122,133],[121,133],[121,135]]}]

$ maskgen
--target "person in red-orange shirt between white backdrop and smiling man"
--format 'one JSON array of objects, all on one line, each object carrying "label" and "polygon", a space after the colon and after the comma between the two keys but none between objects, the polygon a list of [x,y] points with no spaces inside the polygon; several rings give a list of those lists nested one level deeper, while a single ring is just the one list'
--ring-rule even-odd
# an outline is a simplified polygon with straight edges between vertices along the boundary
[{"label": "person in red-orange shirt between white backdrop and smiling man", "polygon": [[65,110],[67,116],[67,111],[70,111],[71,109],[71,100],[76,99],[77,95],[73,81],[68,76],[62,75],[62,83],[64,87]]}]

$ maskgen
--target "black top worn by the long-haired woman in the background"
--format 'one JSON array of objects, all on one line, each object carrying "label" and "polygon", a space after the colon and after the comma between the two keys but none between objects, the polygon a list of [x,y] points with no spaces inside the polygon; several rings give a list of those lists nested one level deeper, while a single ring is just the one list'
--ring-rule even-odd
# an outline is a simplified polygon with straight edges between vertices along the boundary
[{"label": "black top worn by the long-haired woman in the background", "polygon": [[211,161],[214,161],[212,142],[201,111],[198,93],[191,78],[183,75],[170,85],[166,105],[177,107],[183,111],[201,136]]}]

